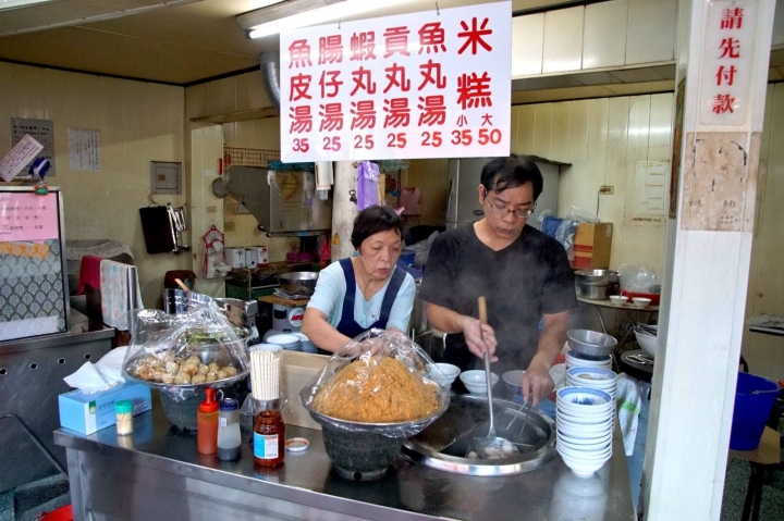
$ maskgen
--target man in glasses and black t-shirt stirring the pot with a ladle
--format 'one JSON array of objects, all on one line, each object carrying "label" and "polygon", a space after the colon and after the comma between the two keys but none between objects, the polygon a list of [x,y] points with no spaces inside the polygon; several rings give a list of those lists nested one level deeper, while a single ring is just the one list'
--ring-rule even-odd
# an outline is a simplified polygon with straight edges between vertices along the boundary
[{"label": "man in glasses and black t-shirt stirring the pot with a ladle", "polygon": [[[481,368],[471,355],[481,359],[489,350],[499,375],[526,370],[523,398],[532,393],[535,405],[553,389],[550,368],[577,307],[563,246],[526,224],[542,185],[539,168],[526,157],[486,164],[478,187],[485,218],[436,238],[420,289],[430,324],[448,333],[444,361]],[[480,296],[488,303],[485,326]]]}]

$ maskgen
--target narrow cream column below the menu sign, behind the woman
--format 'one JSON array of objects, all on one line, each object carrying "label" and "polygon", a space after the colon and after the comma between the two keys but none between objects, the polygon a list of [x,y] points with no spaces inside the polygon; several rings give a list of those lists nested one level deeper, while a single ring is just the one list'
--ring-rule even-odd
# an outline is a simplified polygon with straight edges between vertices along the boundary
[{"label": "narrow cream column below the menu sign, behind the woman", "polygon": [[[350,200],[350,190],[356,190],[357,169],[351,161],[334,163],[334,186],[332,194],[332,262],[354,253],[351,233],[357,216],[356,202]],[[335,238],[340,244],[335,244]]]}]

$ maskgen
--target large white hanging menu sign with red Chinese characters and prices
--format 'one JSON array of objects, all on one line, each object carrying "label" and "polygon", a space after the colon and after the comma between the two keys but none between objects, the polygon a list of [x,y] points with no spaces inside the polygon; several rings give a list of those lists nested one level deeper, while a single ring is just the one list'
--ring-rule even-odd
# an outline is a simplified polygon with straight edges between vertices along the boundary
[{"label": "large white hanging menu sign with red Chinese characters and prices", "polygon": [[509,156],[512,3],[281,34],[281,159]]}]

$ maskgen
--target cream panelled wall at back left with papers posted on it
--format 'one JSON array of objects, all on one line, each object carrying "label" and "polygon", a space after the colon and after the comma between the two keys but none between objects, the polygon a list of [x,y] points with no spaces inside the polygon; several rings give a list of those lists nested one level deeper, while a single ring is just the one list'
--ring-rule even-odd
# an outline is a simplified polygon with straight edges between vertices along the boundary
[{"label": "cream panelled wall at back left with papers posted on it", "polygon": [[[65,201],[68,239],[126,243],[138,266],[145,306],[155,307],[168,270],[187,256],[147,255],[138,209],[148,204],[150,161],[183,161],[184,89],[0,63],[0,154],[11,145],[10,117],[54,122],[56,177]],[[69,169],[68,129],[100,132],[99,172]],[[185,196],[158,202],[185,203]]]}]

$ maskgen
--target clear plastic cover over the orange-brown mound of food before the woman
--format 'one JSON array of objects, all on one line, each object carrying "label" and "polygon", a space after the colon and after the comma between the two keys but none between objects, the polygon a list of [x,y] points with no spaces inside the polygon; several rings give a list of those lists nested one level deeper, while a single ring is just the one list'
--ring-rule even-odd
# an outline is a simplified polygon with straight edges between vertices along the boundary
[{"label": "clear plastic cover over the orange-brown mound of food before the woman", "polygon": [[393,438],[418,434],[449,407],[449,379],[414,340],[370,330],[340,348],[299,393],[315,421]]}]

